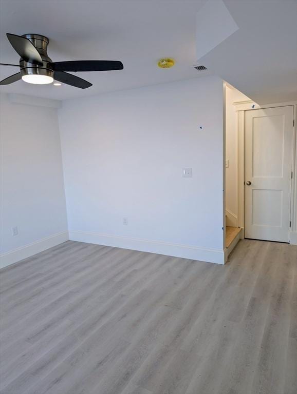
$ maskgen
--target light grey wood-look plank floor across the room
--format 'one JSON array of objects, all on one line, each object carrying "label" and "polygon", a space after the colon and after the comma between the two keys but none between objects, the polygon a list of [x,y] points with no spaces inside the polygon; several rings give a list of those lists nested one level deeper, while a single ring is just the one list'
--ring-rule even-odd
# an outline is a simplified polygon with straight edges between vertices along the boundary
[{"label": "light grey wood-look plank floor across the room", "polygon": [[297,246],[227,265],[67,241],[1,271],[2,394],[294,394]]}]

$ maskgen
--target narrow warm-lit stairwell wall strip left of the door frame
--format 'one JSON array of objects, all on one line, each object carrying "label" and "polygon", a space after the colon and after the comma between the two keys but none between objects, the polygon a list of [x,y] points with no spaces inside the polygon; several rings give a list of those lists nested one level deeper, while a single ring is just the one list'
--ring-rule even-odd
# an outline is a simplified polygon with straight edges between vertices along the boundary
[{"label": "narrow warm-lit stairwell wall strip left of the door frame", "polygon": [[226,168],[226,223],[234,227],[238,225],[238,139],[236,129],[236,108],[233,103],[247,100],[250,100],[249,97],[242,92],[231,86],[226,86],[226,161],[229,161],[229,167]]}]

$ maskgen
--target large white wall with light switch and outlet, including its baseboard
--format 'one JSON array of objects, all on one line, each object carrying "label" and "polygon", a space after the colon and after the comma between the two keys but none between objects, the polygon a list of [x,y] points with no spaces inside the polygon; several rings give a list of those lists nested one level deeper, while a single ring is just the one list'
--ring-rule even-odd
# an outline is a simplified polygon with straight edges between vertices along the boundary
[{"label": "large white wall with light switch and outlet, including its baseboard", "polygon": [[70,239],[223,263],[222,99],[209,76],[63,102]]}]

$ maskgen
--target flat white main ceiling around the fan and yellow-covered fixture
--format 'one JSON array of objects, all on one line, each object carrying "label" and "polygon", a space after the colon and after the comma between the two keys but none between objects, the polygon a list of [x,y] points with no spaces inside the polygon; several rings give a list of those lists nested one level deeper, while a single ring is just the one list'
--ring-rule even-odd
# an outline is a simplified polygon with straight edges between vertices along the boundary
[{"label": "flat white main ceiling around the fan and yellow-covered fixture", "polygon": [[[23,81],[3,92],[67,99],[101,92],[195,78],[196,13],[205,0],[1,0],[1,63],[18,63],[6,33],[38,33],[50,39],[52,61],[120,60],[123,71],[76,75],[93,84],[88,89],[63,85],[34,86]],[[161,57],[175,58],[172,69],[160,69]],[[0,67],[1,79],[18,69]],[[203,72],[205,75],[207,72]]]}]

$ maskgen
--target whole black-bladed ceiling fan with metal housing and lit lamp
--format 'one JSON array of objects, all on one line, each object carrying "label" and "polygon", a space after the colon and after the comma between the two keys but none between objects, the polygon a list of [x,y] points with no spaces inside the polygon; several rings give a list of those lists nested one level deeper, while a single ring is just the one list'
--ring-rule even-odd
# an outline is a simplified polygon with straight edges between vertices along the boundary
[{"label": "whole black-bladed ceiling fan with metal housing and lit lamp", "polygon": [[86,89],[89,82],[65,71],[108,71],[122,70],[122,62],[108,60],[78,60],[70,62],[52,62],[47,54],[49,39],[40,34],[6,34],[14,50],[21,56],[20,65],[0,63],[3,66],[20,67],[20,72],[10,75],[0,82],[9,85],[23,80],[29,84],[50,84],[53,80],[63,84]]}]

